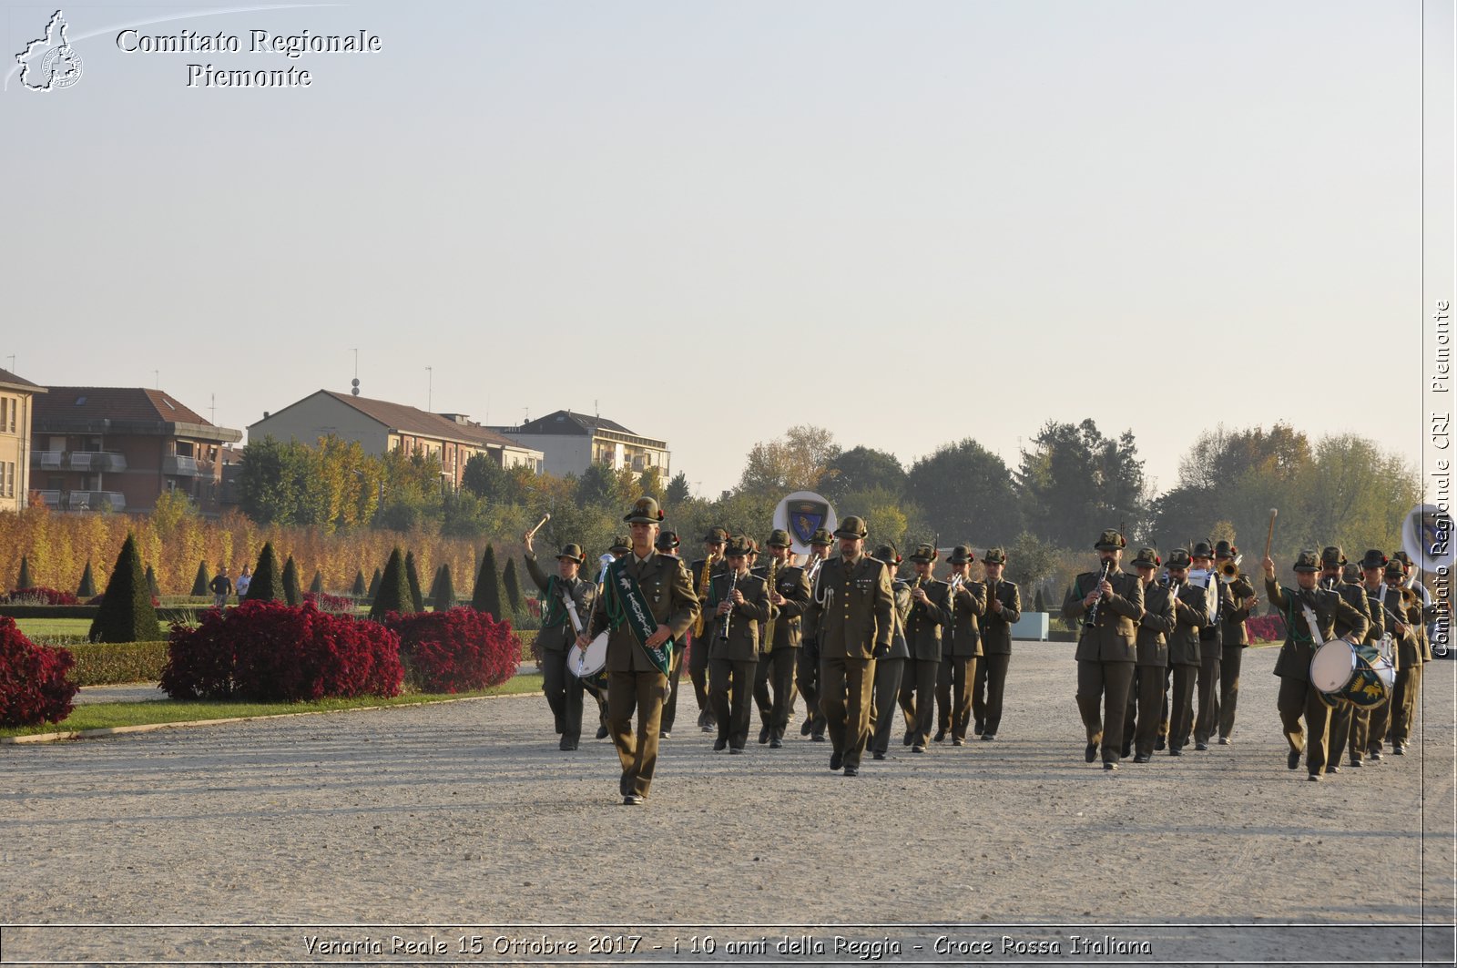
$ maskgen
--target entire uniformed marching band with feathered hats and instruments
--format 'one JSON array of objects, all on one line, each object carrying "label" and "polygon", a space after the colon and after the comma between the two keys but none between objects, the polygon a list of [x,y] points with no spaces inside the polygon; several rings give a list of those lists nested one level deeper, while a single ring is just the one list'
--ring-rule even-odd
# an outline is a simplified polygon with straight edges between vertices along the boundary
[{"label": "entire uniformed marching band with feathered hats and instruments", "polygon": [[[895,547],[868,554],[865,522],[851,516],[833,534],[801,534],[807,555],[774,529],[763,563],[752,538],[712,528],[704,557],[689,566],[661,519],[654,499],[640,499],[625,516],[631,538],[603,555],[597,583],[578,577],[584,555],[576,544],[557,555],[558,574],[543,574],[532,554],[535,529],[526,535],[526,567],[543,602],[543,690],[561,749],[578,748],[583,697],[593,694],[622,760],[624,803],[647,799],[685,662],[698,726],[714,735],[715,751],[746,751],[755,710],[759,743],[782,748],[797,697],[806,707],[800,735],[828,735],[829,768],[847,777],[860,774],[867,748],[874,760],[887,757],[896,707],[912,754],[947,738],[965,745],[973,720],[973,735],[997,738],[1011,625],[1021,615],[1001,548],[982,555],[981,580],[967,545],[951,550],[944,579],[934,544],[918,545],[914,573],[900,576]],[[1271,536],[1273,525],[1275,512]],[[1113,771],[1129,757],[1180,757],[1190,739],[1196,751],[1233,742],[1246,620],[1262,596],[1234,544],[1189,544],[1167,561],[1139,548],[1131,574],[1123,535],[1106,529],[1094,542],[1099,569],[1068,589],[1062,615],[1078,628],[1085,762],[1101,760]],[[1265,601],[1285,621],[1275,675],[1287,767],[1304,761],[1314,781],[1338,773],[1343,752],[1351,767],[1381,760],[1387,742],[1405,755],[1422,665],[1432,657],[1426,625],[1445,604],[1415,580],[1405,554],[1371,550],[1352,564],[1339,547],[1301,551],[1295,588],[1287,588],[1268,538],[1260,569]]]}]

